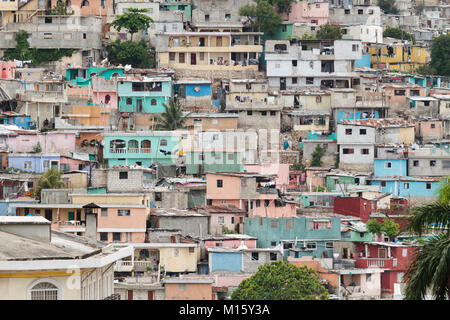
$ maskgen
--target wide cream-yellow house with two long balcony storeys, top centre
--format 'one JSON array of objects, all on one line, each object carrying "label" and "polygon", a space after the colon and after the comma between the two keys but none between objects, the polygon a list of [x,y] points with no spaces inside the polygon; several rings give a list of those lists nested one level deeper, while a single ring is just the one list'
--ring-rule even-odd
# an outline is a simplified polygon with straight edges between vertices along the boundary
[{"label": "wide cream-yellow house with two long balcony storeys, top centre", "polygon": [[198,71],[258,70],[261,32],[184,32],[165,38],[159,67]]}]

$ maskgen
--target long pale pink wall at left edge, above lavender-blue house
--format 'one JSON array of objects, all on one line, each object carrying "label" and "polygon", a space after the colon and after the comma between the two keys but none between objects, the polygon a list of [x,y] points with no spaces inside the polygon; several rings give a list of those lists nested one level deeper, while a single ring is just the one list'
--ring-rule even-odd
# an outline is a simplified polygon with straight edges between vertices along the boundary
[{"label": "long pale pink wall at left edge, above lavender-blue house", "polygon": [[63,153],[75,151],[75,133],[20,133],[16,136],[0,136],[0,148],[12,153],[29,153],[38,144],[43,153]]}]

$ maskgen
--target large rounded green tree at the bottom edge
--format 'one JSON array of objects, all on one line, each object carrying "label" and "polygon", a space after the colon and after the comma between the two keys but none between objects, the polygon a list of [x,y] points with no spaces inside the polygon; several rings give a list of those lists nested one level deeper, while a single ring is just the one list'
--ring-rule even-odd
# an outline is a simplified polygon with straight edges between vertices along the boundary
[{"label": "large rounded green tree at the bottom edge", "polygon": [[286,261],[265,263],[231,294],[233,300],[327,300],[317,273]]}]

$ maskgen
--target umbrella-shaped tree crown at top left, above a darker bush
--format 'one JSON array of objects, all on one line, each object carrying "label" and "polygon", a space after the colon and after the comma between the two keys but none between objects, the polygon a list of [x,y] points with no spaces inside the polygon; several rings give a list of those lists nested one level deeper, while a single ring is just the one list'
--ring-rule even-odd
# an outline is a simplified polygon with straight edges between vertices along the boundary
[{"label": "umbrella-shaped tree crown at top left, above a darker bush", "polygon": [[124,14],[117,15],[111,26],[120,32],[126,29],[131,34],[131,41],[133,41],[133,34],[140,30],[147,30],[154,21],[145,13],[148,9],[129,8]]}]

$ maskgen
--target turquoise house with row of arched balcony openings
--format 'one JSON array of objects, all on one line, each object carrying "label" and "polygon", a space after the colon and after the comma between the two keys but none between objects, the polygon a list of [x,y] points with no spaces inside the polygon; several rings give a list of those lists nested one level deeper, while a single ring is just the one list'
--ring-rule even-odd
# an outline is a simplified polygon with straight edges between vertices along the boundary
[{"label": "turquoise house with row of arched balcony openings", "polygon": [[112,132],[103,136],[103,158],[108,161],[108,168],[174,164],[178,158],[181,134],[175,131]]}]

